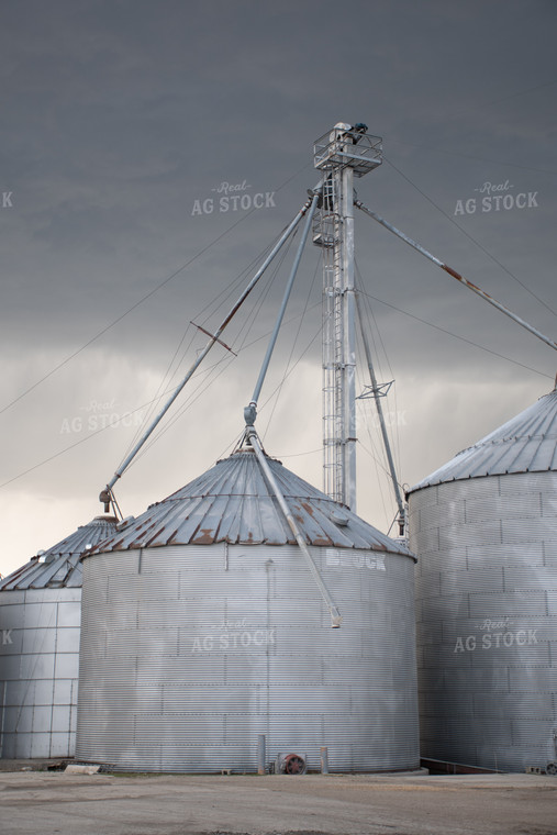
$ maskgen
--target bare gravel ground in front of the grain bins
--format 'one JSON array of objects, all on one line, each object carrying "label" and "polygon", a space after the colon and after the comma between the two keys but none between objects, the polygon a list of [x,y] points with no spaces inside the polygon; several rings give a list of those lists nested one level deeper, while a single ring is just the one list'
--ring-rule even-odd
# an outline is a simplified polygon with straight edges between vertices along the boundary
[{"label": "bare gravel ground in front of the grain bins", "polygon": [[2,770],[0,809],[2,835],[557,835],[557,778]]}]

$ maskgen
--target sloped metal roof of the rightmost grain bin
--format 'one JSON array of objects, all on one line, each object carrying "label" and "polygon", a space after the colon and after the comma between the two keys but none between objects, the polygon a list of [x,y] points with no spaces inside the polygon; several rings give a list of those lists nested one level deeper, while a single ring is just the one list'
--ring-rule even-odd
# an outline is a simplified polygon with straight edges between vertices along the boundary
[{"label": "sloped metal roof of the rightmost grain bin", "polygon": [[557,390],[458,453],[409,493],[468,478],[557,470]]}]

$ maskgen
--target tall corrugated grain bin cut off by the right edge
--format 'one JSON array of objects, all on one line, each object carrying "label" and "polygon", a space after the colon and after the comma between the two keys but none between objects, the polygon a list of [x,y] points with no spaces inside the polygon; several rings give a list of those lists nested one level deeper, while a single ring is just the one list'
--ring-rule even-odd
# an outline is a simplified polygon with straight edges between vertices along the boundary
[{"label": "tall corrugated grain bin cut off by the right edge", "polygon": [[412,488],[422,756],[557,770],[557,391]]}]

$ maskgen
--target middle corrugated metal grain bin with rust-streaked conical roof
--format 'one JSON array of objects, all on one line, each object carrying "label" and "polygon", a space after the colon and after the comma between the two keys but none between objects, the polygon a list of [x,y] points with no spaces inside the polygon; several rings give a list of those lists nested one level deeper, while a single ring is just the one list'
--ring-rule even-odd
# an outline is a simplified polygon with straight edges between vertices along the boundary
[{"label": "middle corrugated metal grain bin with rust-streaked conical roof", "polygon": [[267,459],[341,609],[331,619],[253,452],[83,559],[76,755],[115,769],[419,766],[414,559]]}]

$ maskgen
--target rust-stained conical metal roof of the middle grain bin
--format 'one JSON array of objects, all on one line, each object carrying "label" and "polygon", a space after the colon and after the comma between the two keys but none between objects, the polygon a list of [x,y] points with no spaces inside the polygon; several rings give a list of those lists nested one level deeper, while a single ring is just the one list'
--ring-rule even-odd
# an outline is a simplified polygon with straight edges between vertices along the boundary
[{"label": "rust-stained conical metal roof of the middle grain bin", "polygon": [[[280,461],[268,464],[309,545],[408,554]],[[294,536],[252,450],[233,454],[130,522],[93,553],[167,545],[293,545]]]}]

